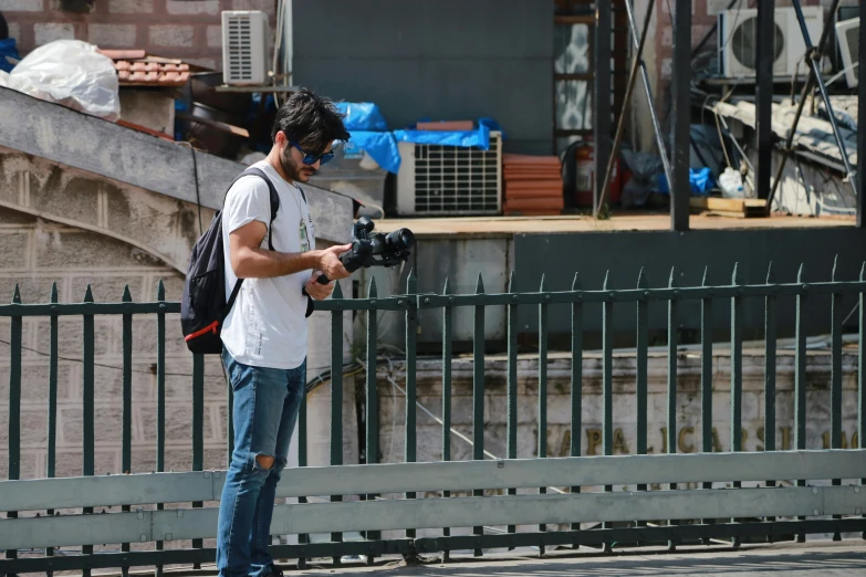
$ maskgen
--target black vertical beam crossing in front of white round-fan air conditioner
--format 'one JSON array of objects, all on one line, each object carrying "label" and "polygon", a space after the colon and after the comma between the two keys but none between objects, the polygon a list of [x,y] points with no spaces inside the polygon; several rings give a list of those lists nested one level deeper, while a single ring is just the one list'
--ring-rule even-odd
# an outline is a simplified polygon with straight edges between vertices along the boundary
[{"label": "black vertical beam crossing in front of white round-fan air conditioner", "polygon": [[773,46],[775,0],[758,0],[758,43],[755,45],[755,138],[758,162],[754,188],[758,198],[770,197],[773,171]]}]

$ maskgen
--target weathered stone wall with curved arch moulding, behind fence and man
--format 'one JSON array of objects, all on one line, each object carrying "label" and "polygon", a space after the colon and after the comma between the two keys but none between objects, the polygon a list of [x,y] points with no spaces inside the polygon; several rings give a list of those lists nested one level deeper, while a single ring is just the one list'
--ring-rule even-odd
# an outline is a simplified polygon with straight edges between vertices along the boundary
[{"label": "weathered stone wall with curved arch moulding, behind fence and man", "polygon": [[[124,285],[134,301],[153,302],[165,283],[166,300],[181,297],[189,250],[198,237],[192,204],[140,188],[62,167],[8,149],[0,150],[0,301],[19,285],[24,303],[44,303],[51,283],[60,302],[82,302],[90,284],[96,302],[118,302]],[[212,211],[202,210],[205,225]],[[326,244],[321,244],[324,248]],[[349,292],[351,295],[351,292]],[[346,313],[347,317],[349,313]],[[346,321],[348,326],[348,321]],[[122,319],[96,317],[96,472],[121,473]],[[9,318],[0,317],[0,339],[8,343]],[[0,344],[2,345],[2,344]],[[22,461],[23,479],[45,475],[49,319],[23,322]],[[133,323],[133,472],[155,469],[156,318]],[[349,354],[346,340],[344,353]],[[58,386],[58,476],[81,473],[82,325],[80,317],[60,322]],[[310,323],[309,374],[331,363],[330,316]],[[166,468],[191,466],[191,355],[180,334],[178,315],[166,317]],[[10,354],[0,346],[0,479],[8,471]],[[226,465],[226,382],[216,357],[205,368],[205,468]],[[309,397],[311,464],[326,463],[330,387]],[[354,381],[345,379],[345,453],[357,459]],[[353,461],[354,460],[354,461]]]}]

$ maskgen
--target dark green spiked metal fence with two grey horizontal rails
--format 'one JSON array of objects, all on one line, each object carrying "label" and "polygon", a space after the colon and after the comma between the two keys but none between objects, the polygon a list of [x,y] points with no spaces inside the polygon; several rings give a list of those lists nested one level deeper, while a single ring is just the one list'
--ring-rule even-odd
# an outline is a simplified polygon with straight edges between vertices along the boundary
[{"label": "dark green spiked metal fence with two grey horizontal rails", "polygon": [[[865,269],[866,271],[866,269]],[[344,298],[340,285],[332,300],[316,303],[317,311],[330,312],[332,324],[331,371],[331,450],[328,468],[306,468],[307,416],[302,403],[299,419],[301,468],[284,480],[278,496],[298,496],[298,505],[279,505],[274,516],[274,533],[298,534],[296,545],[274,545],[278,558],[305,559],[332,557],[338,563],[344,555],[365,555],[368,560],[386,554],[414,557],[418,554],[474,550],[500,547],[556,545],[595,545],[611,548],[617,544],[710,543],[711,539],[799,538],[808,533],[864,532],[866,537],[866,451],[843,449],[842,437],[842,355],[843,295],[859,297],[859,370],[857,375],[857,432],[866,434],[866,396],[864,396],[864,293],[866,273],[858,281],[805,283],[801,276],[793,283],[775,282],[772,272],[764,284],[742,283],[737,269],[727,286],[678,287],[675,274],[668,286],[650,288],[641,274],[637,286],[614,290],[604,283],[601,290],[584,290],[575,275],[571,291],[552,292],[542,280],[534,293],[509,292],[487,294],[479,276],[476,294],[452,294],[446,281],[441,294],[418,294],[416,280],[409,275],[406,294],[379,297],[371,283],[366,298]],[[512,273],[510,286],[513,286]],[[706,284],[706,283],[705,283]],[[778,451],[775,426],[776,315],[780,297],[796,300],[796,357],[794,382],[793,451]],[[763,300],[765,311],[765,375],[764,375],[764,452],[742,451],[742,352],[743,301]],[[799,322],[808,303],[827,298],[832,303],[830,382],[831,449],[806,451],[806,335]],[[647,454],[648,400],[648,312],[653,302],[666,303],[668,308],[668,374],[667,374],[667,448],[676,452],[677,346],[678,307],[685,301],[698,301],[701,306],[701,454]],[[614,375],[613,375],[613,313],[614,304],[622,311],[623,303],[634,305],[636,333],[636,398],[637,455],[614,454]],[[547,318],[552,305],[571,307],[571,356],[583,358],[584,311],[601,307],[602,331],[602,397],[603,428],[602,457],[581,457],[580,434],[572,434],[567,458],[546,458],[546,387],[547,387]],[[731,452],[712,453],[712,310],[730,307],[731,318]],[[507,455],[501,461],[484,461],[484,314],[487,307],[504,306],[508,316],[508,410]],[[539,313],[539,373],[538,373],[538,459],[517,459],[518,447],[518,308],[535,307]],[[451,363],[453,318],[458,311],[472,312],[473,340],[473,461],[451,460]],[[215,550],[202,548],[202,538],[216,534],[216,510],[202,507],[219,499],[223,474],[202,471],[204,463],[204,390],[205,360],[194,359],[191,377],[192,406],[189,431],[192,461],[189,472],[159,473],[165,469],[165,402],[166,402],[166,315],[178,313],[180,305],[164,301],[133,303],[128,290],[119,303],[94,303],[90,288],[83,303],[58,303],[56,290],[48,304],[21,304],[18,290],[13,302],[0,305],[0,317],[11,318],[9,346],[9,479],[0,482],[0,549],[8,549],[0,560],[0,573],[30,573],[211,562]],[[343,463],[343,385],[344,312],[361,312],[366,319],[366,455],[378,454],[379,400],[377,390],[377,313],[390,311],[405,316],[406,395],[405,395],[405,455],[406,464]],[[442,314],[441,355],[441,421],[444,463],[415,463],[416,438],[416,335],[420,311]],[[132,360],[133,316],[148,315],[157,319],[157,473],[147,475],[94,475],[94,317],[121,315],[123,318],[123,470],[131,470],[132,460]],[[22,387],[22,318],[50,318],[49,406],[48,406],[48,478],[20,481],[21,428],[20,403]],[[61,316],[82,318],[83,338],[83,478],[51,479],[55,471],[56,388],[59,337]],[[571,369],[571,430],[582,429],[582,364],[572,363]],[[230,402],[229,395],[229,402]],[[229,410],[229,419],[231,410]],[[231,452],[229,423],[228,449]],[[375,459],[374,459],[375,460]],[[286,475],[288,476],[288,475]],[[847,480],[843,485],[842,480]],[[795,481],[796,486],[779,486],[776,481]],[[760,481],[763,486],[741,487],[741,482]],[[831,481],[830,486],[807,485],[810,481]],[[678,487],[677,483],[699,483],[700,489]],[[712,482],[732,482],[732,490],[713,489]],[[648,491],[650,483],[669,483],[668,491]],[[615,493],[614,484],[636,484],[636,491]],[[601,492],[582,494],[582,487],[603,486]],[[534,493],[518,494],[518,487],[535,487]],[[556,494],[545,494],[554,487]],[[502,496],[491,496],[486,490],[507,490]],[[441,497],[416,499],[417,492],[432,491]],[[452,491],[471,492],[471,496],[455,496]],[[387,499],[400,493],[404,499]],[[305,497],[334,495],[332,503],[307,503]],[[361,496],[361,501],[342,502],[344,496]],[[386,495],[386,496],[383,496]],[[181,503],[191,507],[164,508],[164,503]],[[157,505],[155,510],[136,508]],[[94,507],[122,506],[121,513],[94,514]],[[328,508],[330,507],[330,508]],[[81,514],[56,515],[55,510],[80,508]],[[21,515],[20,512],[28,512]],[[34,516],[35,515],[35,516]],[[833,515],[832,518],[827,518]],[[844,517],[843,517],[844,515]],[[785,518],[778,518],[785,517]],[[817,518],[820,517],[820,518]],[[657,520],[669,518],[665,523]],[[597,522],[597,528],[581,529],[581,522]],[[680,523],[682,522],[682,523]],[[547,525],[557,524],[556,527]],[[486,526],[507,526],[503,532],[486,531]],[[523,525],[518,531],[518,525]],[[532,531],[525,531],[532,525]],[[448,527],[472,527],[469,534]],[[417,528],[435,529],[422,536]],[[383,538],[383,531],[405,531],[404,536]],[[359,532],[359,539],[343,539],[344,532]],[[330,539],[312,543],[311,534],[331,534]],[[114,539],[114,541],[112,541]],[[161,550],[165,541],[192,539],[191,548]],[[127,542],[119,553],[94,553],[93,546]],[[128,542],[154,543],[155,550],[129,550]],[[81,546],[81,554],[56,555],[52,547]],[[27,558],[18,558],[19,550],[28,549]],[[35,549],[35,552],[34,552]]]}]

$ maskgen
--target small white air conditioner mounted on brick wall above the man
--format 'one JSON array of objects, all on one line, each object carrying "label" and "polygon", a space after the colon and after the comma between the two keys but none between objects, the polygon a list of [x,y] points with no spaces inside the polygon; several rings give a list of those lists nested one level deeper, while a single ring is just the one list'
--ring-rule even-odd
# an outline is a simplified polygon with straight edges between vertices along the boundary
[{"label": "small white air conditioner mounted on brick wall above the man", "polygon": [[226,84],[268,81],[268,14],[259,10],[222,12],[222,77]]}]

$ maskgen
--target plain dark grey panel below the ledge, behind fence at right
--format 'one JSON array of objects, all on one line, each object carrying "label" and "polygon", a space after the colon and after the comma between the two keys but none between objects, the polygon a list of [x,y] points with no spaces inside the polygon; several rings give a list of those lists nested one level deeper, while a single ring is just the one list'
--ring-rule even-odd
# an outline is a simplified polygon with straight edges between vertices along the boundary
[{"label": "plain dark grey panel below the ledge, behind fence at right", "polygon": [[[730,285],[733,267],[739,263],[743,282],[762,284],[770,262],[773,263],[776,282],[796,281],[797,269],[804,265],[805,282],[828,282],[833,260],[838,259],[837,280],[858,279],[866,261],[865,233],[851,225],[822,229],[776,230],[696,230],[688,233],[672,232],[593,232],[582,234],[519,234],[514,238],[514,266],[518,271],[518,288],[536,291],[541,275],[545,274],[551,291],[571,288],[574,273],[581,274],[585,290],[598,291],[609,271],[611,288],[637,286],[638,272],[644,267],[650,287],[668,285],[671,266],[676,267],[679,286],[700,286],[705,267],[707,283]],[[856,304],[855,294],[843,297],[845,315]],[[730,332],[730,301],[717,300],[713,312],[717,342],[728,338]],[[745,298],[743,302],[744,328],[748,336],[763,335],[763,298]],[[538,310],[520,307],[520,328],[530,334],[538,331]],[[779,335],[793,335],[794,297],[779,300]],[[679,327],[684,338],[693,342],[699,336],[700,303],[686,301],[679,308]],[[614,327],[624,346],[634,340],[635,305],[622,303],[614,306]],[[830,296],[810,300],[804,314],[807,335],[830,333]],[[848,328],[856,326],[856,317],[848,319]],[[667,331],[667,303],[649,306],[651,331]],[[602,328],[601,305],[587,305],[584,328],[597,333]],[[568,334],[571,316],[567,305],[552,305],[550,331]],[[597,344],[597,343],[596,343]],[[628,345],[630,346],[630,345]]]}]

